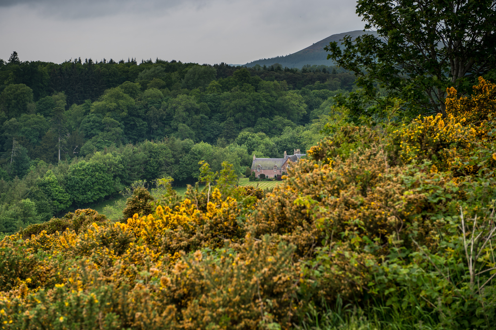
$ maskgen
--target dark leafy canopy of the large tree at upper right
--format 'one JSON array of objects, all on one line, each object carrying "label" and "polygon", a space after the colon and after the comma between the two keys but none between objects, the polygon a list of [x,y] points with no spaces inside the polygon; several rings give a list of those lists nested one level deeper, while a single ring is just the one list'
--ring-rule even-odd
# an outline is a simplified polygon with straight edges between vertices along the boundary
[{"label": "dark leafy canopy of the large tree at upper right", "polygon": [[[383,88],[413,114],[445,116],[447,87],[464,93],[494,69],[496,1],[363,0],[356,12],[377,36],[348,36],[341,47],[332,42],[327,58],[355,72],[361,95],[381,109],[391,104]],[[364,113],[358,103],[351,97],[347,105]]]}]

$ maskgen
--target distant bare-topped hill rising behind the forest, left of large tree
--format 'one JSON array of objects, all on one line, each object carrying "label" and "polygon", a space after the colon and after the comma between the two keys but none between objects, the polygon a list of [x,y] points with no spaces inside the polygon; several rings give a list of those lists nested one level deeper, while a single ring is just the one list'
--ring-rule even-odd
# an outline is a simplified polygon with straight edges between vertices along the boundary
[{"label": "distant bare-topped hill rising behind the forest, left of large tree", "polygon": [[374,31],[362,31],[362,30],[333,34],[325,39],[320,40],[319,42],[314,43],[313,45],[305,49],[302,49],[299,52],[286,56],[277,56],[270,59],[260,59],[257,61],[247,63],[244,66],[251,67],[257,64],[260,66],[263,65],[271,66],[275,63],[279,63],[283,67],[287,66],[287,67],[298,67],[298,68],[302,68],[304,65],[307,64],[317,65],[317,66],[319,65],[332,66],[334,65],[334,63],[332,61],[327,60],[327,52],[324,51],[325,46],[329,45],[329,43],[332,41],[339,41],[340,39],[343,39],[345,35],[349,35],[352,36],[353,38],[356,38],[358,36],[367,33],[376,34],[376,32]]}]

